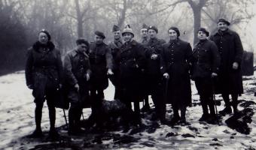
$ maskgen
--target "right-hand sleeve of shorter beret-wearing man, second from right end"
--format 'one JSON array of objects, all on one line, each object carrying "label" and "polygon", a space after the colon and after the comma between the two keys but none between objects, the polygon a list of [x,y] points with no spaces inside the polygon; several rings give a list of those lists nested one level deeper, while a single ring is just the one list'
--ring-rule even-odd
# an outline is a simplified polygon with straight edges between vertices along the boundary
[{"label": "right-hand sleeve of shorter beret-wearing man, second from right end", "polygon": [[221,65],[221,57],[218,53],[218,47],[214,42],[211,42],[211,63],[212,63],[212,72],[218,73],[218,68]]}]

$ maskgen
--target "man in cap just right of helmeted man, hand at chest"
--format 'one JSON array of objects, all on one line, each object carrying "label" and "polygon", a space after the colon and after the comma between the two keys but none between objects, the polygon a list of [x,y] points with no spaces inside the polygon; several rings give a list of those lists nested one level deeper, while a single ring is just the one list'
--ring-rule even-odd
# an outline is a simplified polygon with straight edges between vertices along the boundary
[{"label": "man in cap just right of helmeted man, hand at chest", "polygon": [[166,43],[166,41],[158,39],[157,33],[157,27],[148,27],[148,35],[150,38],[148,43],[145,44],[147,47],[145,50],[147,60],[145,75],[146,90],[148,91],[148,95],[151,95],[156,110],[156,115],[153,115],[152,119],[160,119],[163,123],[166,120],[166,104],[163,98],[163,77],[160,72],[160,53],[163,49],[163,43]]}]

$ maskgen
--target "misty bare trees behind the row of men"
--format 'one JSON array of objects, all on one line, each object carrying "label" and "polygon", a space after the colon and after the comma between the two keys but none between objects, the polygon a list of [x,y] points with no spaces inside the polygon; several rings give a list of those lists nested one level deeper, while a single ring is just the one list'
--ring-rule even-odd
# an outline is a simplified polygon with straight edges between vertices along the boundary
[{"label": "misty bare trees behind the row of men", "polygon": [[[26,49],[46,28],[62,54],[75,46],[75,39],[93,41],[93,32],[103,31],[112,40],[114,24],[127,23],[136,33],[142,24],[157,26],[158,37],[168,40],[167,29],[178,26],[181,38],[197,42],[197,28],[215,31],[216,21],[227,18],[239,26],[254,16],[254,0],[0,0],[0,75],[23,69]],[[241,28],[240,28],[241,30]]]}]

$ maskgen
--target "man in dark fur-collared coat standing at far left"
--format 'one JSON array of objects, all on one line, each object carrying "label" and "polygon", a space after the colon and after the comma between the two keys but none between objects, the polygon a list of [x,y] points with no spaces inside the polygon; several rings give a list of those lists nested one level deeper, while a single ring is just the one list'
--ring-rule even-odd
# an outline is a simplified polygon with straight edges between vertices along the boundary
[{"label": "man in dark fur-collared coat standing at far left", "polygon": [[55,104],[59,98],[58,89],[62,83],[62,61],[60,52],[50,41],[50,34],[41,30],[38,41],[29,48],[26,60],[26,85],[32,89],[35,98],[35,125],[32,137],[42,136],[41,115],[44,101],[47,100],[50,118],[49,136],[55,138],[59,134],[55,130]]}]

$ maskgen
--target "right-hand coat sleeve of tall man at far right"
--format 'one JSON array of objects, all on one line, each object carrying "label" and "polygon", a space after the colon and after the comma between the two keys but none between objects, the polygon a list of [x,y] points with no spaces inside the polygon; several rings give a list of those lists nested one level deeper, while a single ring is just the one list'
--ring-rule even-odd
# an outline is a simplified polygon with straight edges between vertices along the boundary
[{"label": "right-hand coat sleeve of tall man at far right", "polygon": [[239,65],[242,62],[242,54],[243,54],[243,48],[242,48],[242,42],[240,40],[239,34],[235,34],[235,60],[234,62],[239,63]]}]

